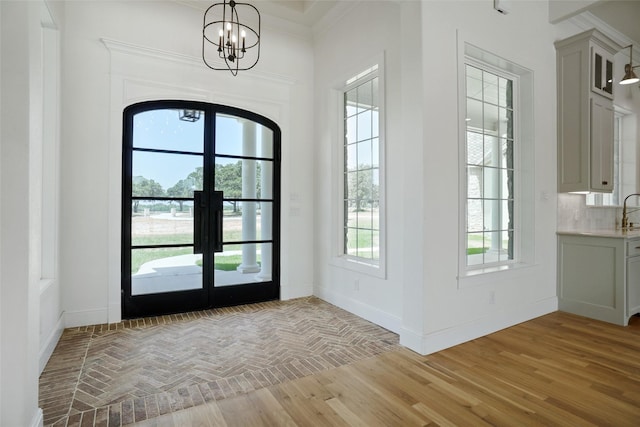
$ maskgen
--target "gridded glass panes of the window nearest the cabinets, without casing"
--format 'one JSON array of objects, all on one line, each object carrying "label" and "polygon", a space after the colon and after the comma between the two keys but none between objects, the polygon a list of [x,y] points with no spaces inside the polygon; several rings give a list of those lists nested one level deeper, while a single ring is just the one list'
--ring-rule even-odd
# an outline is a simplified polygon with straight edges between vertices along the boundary
[{"label": "gridded glass panes of the window nearest the cabinets, without casing", "polygon": [[465,64],[467,268],[516,259],[516,84],[516,77],[480,62]]}]

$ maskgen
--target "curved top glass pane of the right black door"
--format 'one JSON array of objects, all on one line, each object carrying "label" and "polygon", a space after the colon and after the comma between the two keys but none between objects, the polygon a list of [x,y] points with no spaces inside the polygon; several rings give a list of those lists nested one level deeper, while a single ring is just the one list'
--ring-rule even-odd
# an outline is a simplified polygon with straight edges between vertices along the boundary
[{"label": "curved top glass pane of the right black door", "polygon": [[272,159],[273,131],[248,119],[217,114],[216,154]]}]

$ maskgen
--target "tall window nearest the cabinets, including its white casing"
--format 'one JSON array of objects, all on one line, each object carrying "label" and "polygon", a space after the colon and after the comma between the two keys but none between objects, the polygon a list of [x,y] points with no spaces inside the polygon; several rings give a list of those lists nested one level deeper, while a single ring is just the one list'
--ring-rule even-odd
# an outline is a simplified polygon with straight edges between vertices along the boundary
[{"label": "tall window nearest the cabinets, including its white casing", "polygon": [[535,265],[535,94],[530,69],[459,40],[458,284],[465,287]]}]

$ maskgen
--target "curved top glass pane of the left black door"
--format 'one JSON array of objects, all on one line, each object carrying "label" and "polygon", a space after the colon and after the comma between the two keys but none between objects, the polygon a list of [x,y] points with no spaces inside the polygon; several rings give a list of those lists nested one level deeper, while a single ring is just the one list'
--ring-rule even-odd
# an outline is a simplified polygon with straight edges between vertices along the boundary
[{"label": "curved top glass pane of the left black door", "polygon": [[204,111],[199,110],[138,113],[133,118],[133,147],[203,153],[204,122]]}]

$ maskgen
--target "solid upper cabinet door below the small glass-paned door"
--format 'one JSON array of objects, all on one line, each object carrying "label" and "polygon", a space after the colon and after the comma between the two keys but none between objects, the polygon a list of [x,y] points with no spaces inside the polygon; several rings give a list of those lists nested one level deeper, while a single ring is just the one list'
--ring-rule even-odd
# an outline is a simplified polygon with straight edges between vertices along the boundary
[{"label": "solid upper cabinet door below the small glass-paned door", "polygon": [[593,95],[591,98],[591,188],[613,191],[613,104]]}]

